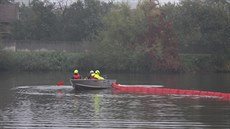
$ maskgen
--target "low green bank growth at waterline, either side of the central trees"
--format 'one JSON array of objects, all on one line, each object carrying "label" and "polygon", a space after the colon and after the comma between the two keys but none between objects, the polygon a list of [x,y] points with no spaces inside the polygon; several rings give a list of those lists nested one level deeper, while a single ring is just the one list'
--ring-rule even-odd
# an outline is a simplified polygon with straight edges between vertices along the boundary
[{"label": "low green bank growth at waterline, either side of the central trees", "polygon": [[[146,61],[130,59],[117,63],[117,60],[94,59],[79,53],[63,52],[0,52],[1,70],[19,71],[71,71],[103,69],[105,71],[141,72]],[[138,57],[137,57],[138,58]],[[111,62],[113,61],[113,62]],[[181,71],[179,72],[230,72],[230,58],[208,54],[180,54]],[[107,65],[109,64],[109,65]],[[118,65],[119,64],[119,65]],[[157,71],[157,70],[156,70]]]}]

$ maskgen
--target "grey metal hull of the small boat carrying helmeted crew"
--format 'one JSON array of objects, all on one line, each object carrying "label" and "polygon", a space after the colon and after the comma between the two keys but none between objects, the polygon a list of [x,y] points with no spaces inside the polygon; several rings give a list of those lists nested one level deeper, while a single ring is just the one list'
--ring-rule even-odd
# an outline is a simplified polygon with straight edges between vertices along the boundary
[{"label": "grey metal hull of the small boat carrying helmeted crew", "polygon": [[112,88],[112,83],[116,83],[116,80],[70,79],[70,83],[75,90],[108,89]]}]

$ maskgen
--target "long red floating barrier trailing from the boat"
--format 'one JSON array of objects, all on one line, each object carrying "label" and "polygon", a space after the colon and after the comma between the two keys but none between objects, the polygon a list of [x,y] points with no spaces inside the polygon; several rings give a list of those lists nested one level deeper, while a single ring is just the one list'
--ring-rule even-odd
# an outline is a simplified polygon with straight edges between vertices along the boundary
[{"label": "long red floating barrier trailing from the boat", "polygon": [[119,92],[125,93],[146,93],[146,94],[160,94],[160,95],[196,95],[196,96],[207,96],[207,97],[218,97],[222,100],[230,101],[230,93],[221,92],[210,92],[210,91],[199,91],[199,90],[184,90],[184,89],[173,89],[156,87],[155,85],[120,85],[113,83],[112,87],[119,90]]}]

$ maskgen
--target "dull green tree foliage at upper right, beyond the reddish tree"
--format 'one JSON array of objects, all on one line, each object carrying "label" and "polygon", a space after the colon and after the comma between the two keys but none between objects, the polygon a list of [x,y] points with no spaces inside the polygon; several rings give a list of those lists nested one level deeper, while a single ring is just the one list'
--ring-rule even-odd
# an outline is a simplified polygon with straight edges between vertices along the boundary
[{"label": "dull green tree foliage at upper right, beyond the reddish tree", "polygon": [[173,21],[180,46],[205,45],[213,54],[230,52],[230,3],[226,0],[182,0],[162,10]]}]

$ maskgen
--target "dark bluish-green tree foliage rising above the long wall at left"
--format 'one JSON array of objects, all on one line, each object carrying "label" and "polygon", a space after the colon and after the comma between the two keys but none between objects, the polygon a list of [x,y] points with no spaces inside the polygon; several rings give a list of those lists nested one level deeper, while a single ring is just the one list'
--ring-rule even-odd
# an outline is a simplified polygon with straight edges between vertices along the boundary
[{"label": "dark bluish-green tree foliage rising above the long wall at left", "polygon": [[14,38],[90,40],[102,28],[101,17],[111,6],[111,2],[97,0],[77,0],[69,6],[33,0],[30,6],[20,7],[20,19],[14,27]]}]

